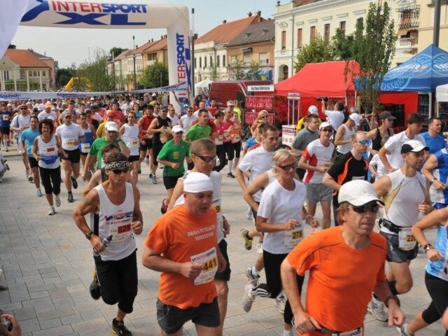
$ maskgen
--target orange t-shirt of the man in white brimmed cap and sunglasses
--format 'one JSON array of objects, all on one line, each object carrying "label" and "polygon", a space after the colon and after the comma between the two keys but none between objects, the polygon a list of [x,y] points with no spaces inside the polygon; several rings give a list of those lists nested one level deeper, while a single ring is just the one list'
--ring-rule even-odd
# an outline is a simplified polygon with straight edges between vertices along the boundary
[{"label": "orange t-shirt of the man in white brimmed cap and sunglasses", "polygon": [[[341,226],[309,235],[288,255],[297,274],[309,270],[306,311],[321,326],[351,331],[363,325],[377,281],[385,281],[386,239],[376,232],[370,244],[356,250],[345,244]],[[310,332],[302,336],[323,335]]]}]

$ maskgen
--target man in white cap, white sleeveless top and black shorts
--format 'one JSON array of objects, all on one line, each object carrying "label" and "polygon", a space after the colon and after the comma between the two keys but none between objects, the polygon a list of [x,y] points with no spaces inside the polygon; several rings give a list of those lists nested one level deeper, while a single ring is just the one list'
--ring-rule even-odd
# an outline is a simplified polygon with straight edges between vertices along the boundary
[{"label": "man in white cap, white sleeveless top and black shorts", "polygon": [[[418,221],[419,214],[424,216],[432,210],[429,183],[417,172],[428,149],[420,141],[406,141],[401,146],[402,167],[373,183],[377,195],[383,197],[385,204],[380,234],[387,240],[387,281],[393,295],[407,293],[412,288],[409,264],[419,251],[412,235],[412,225]],[[372,296],[369,304],[372,315],[379,321],[386,321],[384,310],[383,302]]]}]

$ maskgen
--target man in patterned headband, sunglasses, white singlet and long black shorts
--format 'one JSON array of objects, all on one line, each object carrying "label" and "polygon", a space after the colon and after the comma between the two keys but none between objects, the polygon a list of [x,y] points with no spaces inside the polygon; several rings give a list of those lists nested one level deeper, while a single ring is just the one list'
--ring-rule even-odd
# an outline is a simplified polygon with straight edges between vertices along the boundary
[{"label": "man in patterned headband, sunglasses, white singlet and long black shorts", "polygon": [[[136,186],[126,182],[130,164],[123,153],[111,153],[104,167],[107,180],[85,195],[73,211],[73,219],[92,244],[103,301],[106,304],[118,302],[116,318],[112,321],[113,332],[132,336],[123,320],[126,314],[132,313],[137,296],[134,234],[141,235],[143,231],[140,193]],[[95,210],[99,210],[99,223],[90,228],[84,216]]]}]

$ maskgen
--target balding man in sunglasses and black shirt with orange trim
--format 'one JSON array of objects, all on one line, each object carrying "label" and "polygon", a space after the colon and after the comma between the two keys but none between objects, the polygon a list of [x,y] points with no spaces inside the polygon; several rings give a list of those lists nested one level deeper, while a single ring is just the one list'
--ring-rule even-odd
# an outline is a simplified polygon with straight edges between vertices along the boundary
[{"label": "balding man in sunglasses and black shirt with orange trim", "polygon": [[333,214],[335,226],[339,225],[337,222],[337,208],[339,207],[337,193],[339,193],[341,186],[352,180],[367,180],[369,162],[363,158],[367,151],[367,144],[367,136],[363,132],[356,132],[351,137],[351,151],[339,156],[323,176],[322,183],[334,190]]}]

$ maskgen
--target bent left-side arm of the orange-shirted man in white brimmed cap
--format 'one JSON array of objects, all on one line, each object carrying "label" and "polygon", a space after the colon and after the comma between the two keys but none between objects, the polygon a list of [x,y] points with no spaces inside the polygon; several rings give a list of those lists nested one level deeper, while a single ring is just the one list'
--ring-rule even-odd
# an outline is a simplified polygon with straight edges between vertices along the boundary
[{"label": "bent left-side arm of the orange-shirted man in white brimmed cap", "polygon": [[321,329],[321,325],[305,311],[302,305],[299,288],[297,287],[297,272],[290,265],[288,258],[285,258],[281,263],[281,282],[293,311],[295,330],[304,334]]}]

